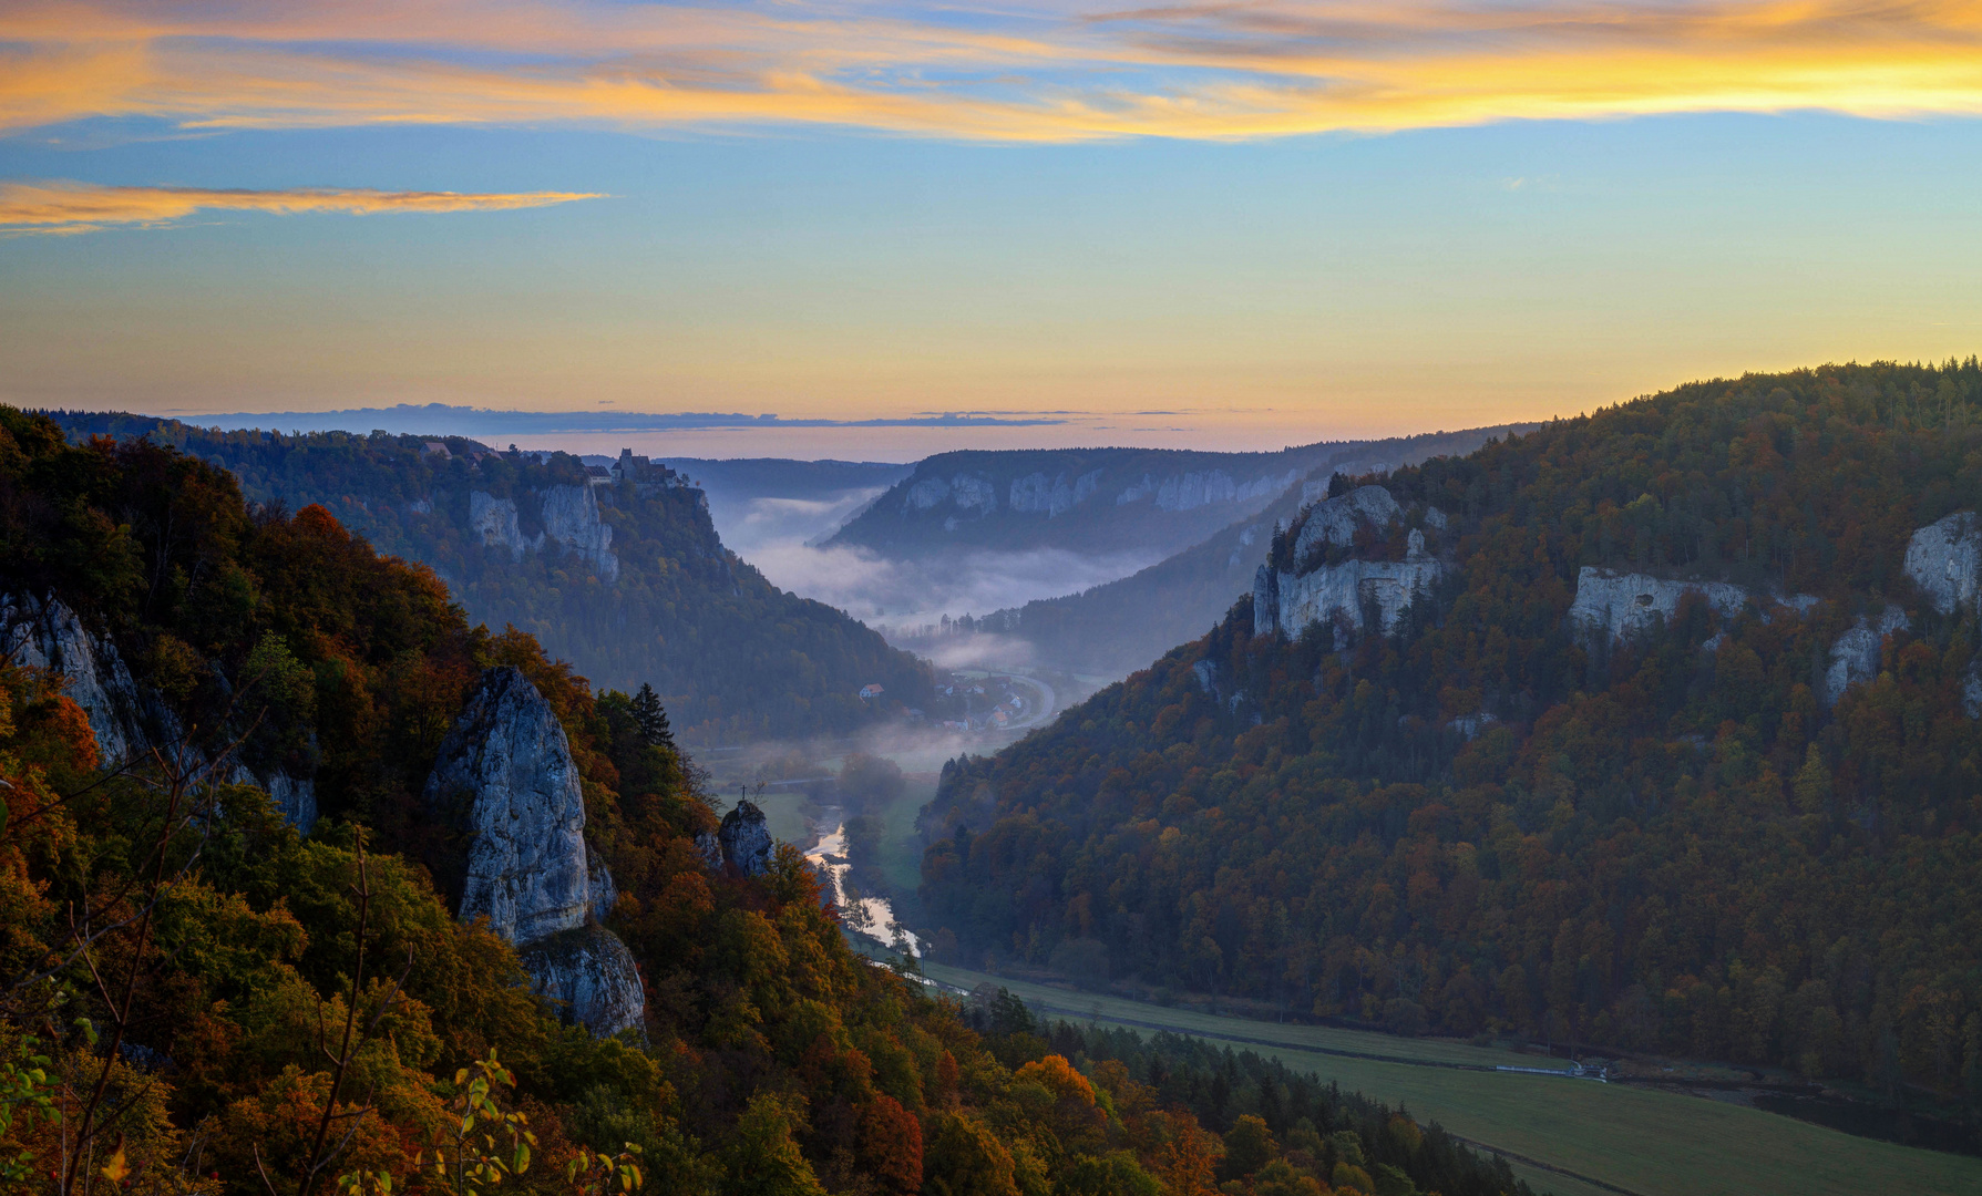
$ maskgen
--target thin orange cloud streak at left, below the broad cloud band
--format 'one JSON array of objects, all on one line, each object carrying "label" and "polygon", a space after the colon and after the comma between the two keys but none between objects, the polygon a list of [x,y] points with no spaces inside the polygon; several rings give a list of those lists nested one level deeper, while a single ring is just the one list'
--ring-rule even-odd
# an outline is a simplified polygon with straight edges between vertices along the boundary
[{"label": "thin orange cloud streak at left, below the broad cloud band", "polygon": [[95,186],[0,182],[0,236],[65,236],[113,226],[159,226],[202,210],[234,212],[503,212],[603,198],[591,192],[458,194],[446,190],[214,190],[200,186]]}]

